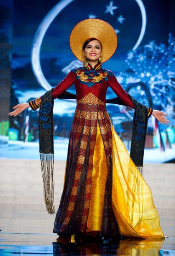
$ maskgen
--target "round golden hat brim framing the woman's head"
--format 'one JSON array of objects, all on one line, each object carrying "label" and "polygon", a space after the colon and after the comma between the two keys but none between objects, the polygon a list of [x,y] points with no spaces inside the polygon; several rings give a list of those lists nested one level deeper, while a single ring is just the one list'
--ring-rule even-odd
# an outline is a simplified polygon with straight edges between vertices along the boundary
[{"label": "round golden hat brim framing the woman's head", "polygon": [[90,38],[102,44],[102,62],[109,60],[117,48],[117,35],[113,27],[102,19],[90,18],[76,24],[70,34],[70,48],[75,57],[84,61],[83,44]]}]

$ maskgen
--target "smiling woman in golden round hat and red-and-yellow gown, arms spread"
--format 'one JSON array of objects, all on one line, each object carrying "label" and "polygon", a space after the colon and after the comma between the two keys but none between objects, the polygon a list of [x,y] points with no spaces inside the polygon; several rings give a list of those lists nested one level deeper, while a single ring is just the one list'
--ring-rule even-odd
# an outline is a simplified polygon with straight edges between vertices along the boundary
[{"label": "smiling woman in golden round hat and red-and-yellow gown, arms spread", "polygon": [[[59,235],[90,232],[93,236],[164,238],[151,191],[137,167],[141,167],[143,160],[140,148],[144,145],[147,117],[152,114],[162,124],[168,124],[166,114],[135,101],[122,89],[111,71],[102,69],[101,63],[108,60],[117,47],[116,33],[109,24],[99,19],[80,22],[71,32],[70,47],[84,62],[84,67],[70,71],[46,96],[18,104],[9,113],[17,116],[28,107],[36,110],[41,105],[42,141],[51,126],[47,122],[52,97],[59,97],[75,84],[77,107],[70,131],[64,190],[53,232]],[[137,167],[107,114],[105,105],[109,86],[125,105],[135,109],[136,133],[132,145],[136,147],[133,146],[132,159]],[[50,139],[46,140],[50,142]],[[41,154],[45,153],[41,148]],[[52,150],[48,152],[52,153]],[[138,161],[140,157],[141,161]],[[43,156],[41,160],[43,163]]]}]

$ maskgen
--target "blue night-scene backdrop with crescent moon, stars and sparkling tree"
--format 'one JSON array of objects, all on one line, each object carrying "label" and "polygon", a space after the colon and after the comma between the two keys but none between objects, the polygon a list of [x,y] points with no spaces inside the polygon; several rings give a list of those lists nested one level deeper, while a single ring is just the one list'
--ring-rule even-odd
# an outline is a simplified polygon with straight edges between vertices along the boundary
[{"label": "blue night-scene backdrop with crescent moon, stars and sparkling tree", "polygon": [[[1,0],[0,8],[4,13],[1,35],[6,34],[6,41],[12,45],[12,50],[8,52],[11,63],[11,107],[43,95],[45,90],[59,83],[70,69],[81,65],[69,48],[70,32],[83,19],[101,18],[111,24],[118,35],[116,53],[103,67],[112,70],[119,83],[132,96],[147,106],[163,109],[169,115],[171,125],[166,129],[162,125],[156,129],[154,120],[149,119],[146,148],[163,147],[166,151],[173,147],[173,0]],[[69,91],[75,92],[74,86]],[[107,98],[111,97],[115,95],[109,89]],[[60,142],[64,139],[67,143],[75,102],[56,100],[55,106],[55,139]],[[108,105],[107,109],[115,130],[129,148],[128,132],[133,111],[113,105]],[[37,118],[38,111],[26,111],[11,118],[9,142],[13,145],[20,141],[36,143]],[[11,154],[15,157],[15,153]],[[30,153],[24,157],[35,158]]]}]

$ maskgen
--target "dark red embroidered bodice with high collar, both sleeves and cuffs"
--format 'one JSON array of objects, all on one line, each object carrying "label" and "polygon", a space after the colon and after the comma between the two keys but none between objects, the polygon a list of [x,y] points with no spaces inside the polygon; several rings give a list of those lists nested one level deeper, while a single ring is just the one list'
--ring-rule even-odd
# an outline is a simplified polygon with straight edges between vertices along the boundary
[{"label": "dark red embroidered bodice with high collar, both sleeves and cuffs", "polygon": [[[89,64],[87,67],[72,69],[68,75],[53,89],[52,95],[56,99],[62,95],[72,84],[75,84],[77,102],[87,96],[94,95],[98,100],[106,103],[107,88],[111,87],[115,94],[127,105],[134,108],[133,102],[127,92],[117,81],[112,71],[103,69],[101,63],[94,68]],[[33,110],[40,107],[41,97],[30,101]],[[148,112],[150,115],[150,108]]]}]

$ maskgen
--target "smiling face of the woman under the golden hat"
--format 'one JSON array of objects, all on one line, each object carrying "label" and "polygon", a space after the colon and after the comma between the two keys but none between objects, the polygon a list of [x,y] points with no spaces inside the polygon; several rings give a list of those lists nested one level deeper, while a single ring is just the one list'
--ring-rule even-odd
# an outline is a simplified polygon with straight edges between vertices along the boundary
[{"label": "smiling face of the woman under the golden hat", "polygon": [[102,56],[102,48],[98,40],[93,40],[85,47],[83,51],[86,60],[89,62],[98,62],[99,58]]}]

